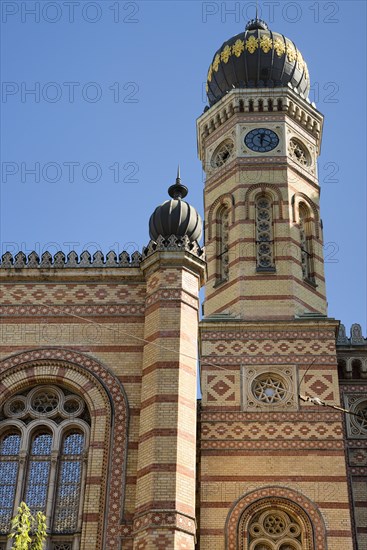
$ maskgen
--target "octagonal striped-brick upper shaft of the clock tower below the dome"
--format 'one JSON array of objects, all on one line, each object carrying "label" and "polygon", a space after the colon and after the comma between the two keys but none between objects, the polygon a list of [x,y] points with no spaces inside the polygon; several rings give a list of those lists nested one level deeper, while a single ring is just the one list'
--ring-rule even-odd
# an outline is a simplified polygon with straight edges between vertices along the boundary
[{"label": "octagonal striped-brick upper shaft of the clock tower below the dome", "polygon": [[[219,108],[219,107],[218,107]],[[211,116],[198,121],[200,134]],[[269,127],[280,136],[277,150],[259,157],[244,155],[245,128]],[[309,169],[289,158],[289,136],[297,133],[312,150]],[[223,139],[235,143],[233,159],[213,169],[210,158]],[[205,315],[231,313],[244,319],[291,319],[305,311],[326,313],[322,227],[316,159],[318,138],[302,129],[286,113],[237,113],[209,136],[202,138],[205,184],[206,250],[208,282]],[[274,272],[257,270],[255,200],[266,194],[272,202]],[[303,279],[298,205],[310,211],[312,262],[315,284]],[[218,212],[229,209],[228,280],[218,281]],[[330,251],[332,252],[332,251]]]}]

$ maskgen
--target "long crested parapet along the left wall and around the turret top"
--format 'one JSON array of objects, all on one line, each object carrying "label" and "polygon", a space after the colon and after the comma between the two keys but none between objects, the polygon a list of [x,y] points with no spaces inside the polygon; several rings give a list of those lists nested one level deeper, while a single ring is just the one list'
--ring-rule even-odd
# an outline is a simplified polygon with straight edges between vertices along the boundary
[{"label": "long crested parapet along the left wall and around the turret top", "polygon": [[204,248],[200,247],[197,241],[191,242],[187,236],[176,237],[171,235],[168,238],[159,236],[157,241],[150,241],[148,246],[129,254],[126,251],[117,254],[113,250],[106,255],[100,250],[93,255],[84,250],[80,255],[74,250],[69,254],[59,251],[52,255],[46,251],[41,256],[33,251],[26,255],[20,251],[13,256],[10,252],[5,252],[0,261],[0,268],[7,269],[75,269],[75,268],[133,268],[140,267],[141,262],[153,254],[155,251],[186,251],[200,259],[205,259]]}]

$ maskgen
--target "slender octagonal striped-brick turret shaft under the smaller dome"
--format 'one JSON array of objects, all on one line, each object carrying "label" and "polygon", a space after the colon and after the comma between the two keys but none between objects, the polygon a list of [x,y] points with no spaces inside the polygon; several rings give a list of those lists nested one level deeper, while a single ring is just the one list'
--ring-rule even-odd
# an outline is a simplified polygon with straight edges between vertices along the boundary
[{"label": "slender octagonal striped-brick turret shaft under the smaller dome", "polygon": [[200,268],[156,254],[147,280],[134,549],[195,544]]}]

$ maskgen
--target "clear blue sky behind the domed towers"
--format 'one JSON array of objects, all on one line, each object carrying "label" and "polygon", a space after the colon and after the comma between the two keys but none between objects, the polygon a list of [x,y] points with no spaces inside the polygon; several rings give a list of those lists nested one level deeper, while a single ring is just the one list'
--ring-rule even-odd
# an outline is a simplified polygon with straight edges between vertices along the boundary
[{"label": "clear blue sky behind the domed towers", "polygon": [[[255,3],[0,7],[1,252],[141,249],[178,162],[202,212],[195,121],[207,69]],[[310,98],[325,115],[319,175],[329,315],[366,333],[366,3],[259,8],[302,51]]]}]

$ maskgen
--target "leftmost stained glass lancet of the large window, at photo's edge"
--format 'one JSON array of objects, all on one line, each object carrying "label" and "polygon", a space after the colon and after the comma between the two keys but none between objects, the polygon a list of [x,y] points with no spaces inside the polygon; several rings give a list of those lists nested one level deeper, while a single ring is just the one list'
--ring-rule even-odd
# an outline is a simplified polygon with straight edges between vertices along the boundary
[{"label": "leftmost stained glass lancet of the large window, at photo's edge", "polygon": [[20,435],[7,433],[0,442],[0,533],[7,533],[13,516],[18,478]]}]

